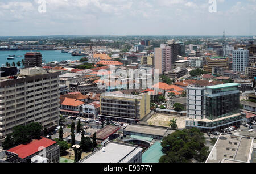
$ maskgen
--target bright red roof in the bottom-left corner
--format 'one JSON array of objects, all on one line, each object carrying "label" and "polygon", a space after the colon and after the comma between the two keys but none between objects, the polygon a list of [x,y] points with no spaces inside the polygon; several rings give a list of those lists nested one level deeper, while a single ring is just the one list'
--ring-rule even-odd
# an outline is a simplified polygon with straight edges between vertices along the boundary
[{"label": "bright red roof in the bottom-left corner", "polygon": [[49,147],[57,143],[56,141],[52,141],[51,139],[41,137],[42,139],[34,139],[27,145],[18,145],[14,148],[11,148],[7,151],[13,152],[19,155],[19,158],[27,158],[30,155],[35,154],[36,152],[42,150],[39,147]]}]

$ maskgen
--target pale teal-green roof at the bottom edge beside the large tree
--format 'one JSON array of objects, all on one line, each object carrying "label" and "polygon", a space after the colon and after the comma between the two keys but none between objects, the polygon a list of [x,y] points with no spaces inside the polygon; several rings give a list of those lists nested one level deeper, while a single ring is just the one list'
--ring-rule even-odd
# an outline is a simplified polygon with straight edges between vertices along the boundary
[{"label": "pale teal-green roof at the bottom edge beside the large tree", "polygon": [[159,159],[164,155],[161,143],[155,142],[142,154],[142,163],[159,163]]}]

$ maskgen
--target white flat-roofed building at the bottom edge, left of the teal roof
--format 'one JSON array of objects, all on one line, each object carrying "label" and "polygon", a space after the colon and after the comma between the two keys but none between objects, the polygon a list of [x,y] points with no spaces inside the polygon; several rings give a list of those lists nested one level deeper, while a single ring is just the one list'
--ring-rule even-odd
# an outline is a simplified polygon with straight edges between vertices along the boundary
[{"label": "white flat-roofed building at the bottom edge, left of the teal roof", "polygon": [[79,163],[141,163],[143,148],[109,141]]}]

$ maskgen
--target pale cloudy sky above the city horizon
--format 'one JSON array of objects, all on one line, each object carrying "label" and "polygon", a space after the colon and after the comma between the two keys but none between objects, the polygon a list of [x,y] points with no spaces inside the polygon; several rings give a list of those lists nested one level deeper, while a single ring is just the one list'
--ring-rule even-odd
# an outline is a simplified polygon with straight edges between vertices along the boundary
[{"label": "pale cloudy sky above the city horizon", "polygon": [[255,36],[255,11],[256,0],[0,0],[0,36]]}]

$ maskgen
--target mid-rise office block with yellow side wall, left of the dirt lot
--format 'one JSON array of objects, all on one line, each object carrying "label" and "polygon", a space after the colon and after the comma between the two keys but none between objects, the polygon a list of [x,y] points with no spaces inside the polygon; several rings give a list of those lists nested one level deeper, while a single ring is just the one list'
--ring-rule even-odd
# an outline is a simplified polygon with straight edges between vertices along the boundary
[{"label": "mid-rise office block with yellow side wall, left of the dirt lot", "polygon": [[138,122],[150,113],[150,95],[101,94],[101,119]]}]

